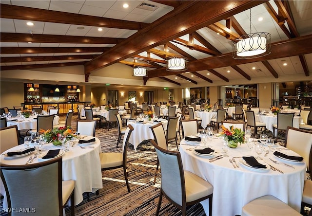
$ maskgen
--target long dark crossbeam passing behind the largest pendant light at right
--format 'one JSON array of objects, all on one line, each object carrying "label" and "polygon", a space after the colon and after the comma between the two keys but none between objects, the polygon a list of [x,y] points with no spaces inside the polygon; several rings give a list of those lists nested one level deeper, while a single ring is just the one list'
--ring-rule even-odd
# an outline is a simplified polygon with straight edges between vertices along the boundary
[{"label": "long dark crossbeam passing behind the largest pendant light at right", "polygon": [[[292,38],[272,44],[272,53],[266,56],[252,58],[252,59],[234,59],[232,53],[216,55],[208,58],[199,59],[188,63],[188,71],[203,71],[214,68],[222,68],[228,66],[235,66],[241,64],[247,64],[258,61],[265,61],[276,58],[290,57],[301,54],[312,53],[311,44],[312,35],[301,36]],[[171,74],[177,74],[180,72],[171,72]],[[165,68],[156,69],[149,72],[149,77],[165,76],[167,74]],[[227,81],[228,82],[228,81]]]}]

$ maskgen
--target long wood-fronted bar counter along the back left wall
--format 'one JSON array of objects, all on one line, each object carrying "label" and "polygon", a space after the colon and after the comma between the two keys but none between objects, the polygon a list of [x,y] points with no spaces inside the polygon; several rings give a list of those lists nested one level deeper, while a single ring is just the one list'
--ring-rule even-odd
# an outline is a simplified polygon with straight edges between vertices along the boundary
[{"label": "long wood-fronted bar counter along the back left wall", "polygon": [[84,105],[87,106],[90,104],[90,101],[69,101],[69,102],[44,102],[44,103],[21,103],[20,106],[24,106],[28,109],[33,109],[33,106],[39,106],[41,105],[43,110],[48,110],[48,106],[55,106],[59,109],[59,114],[66,114],[68,112],[68,109],[74,109],[75,112],[77,112],[78,105]]}]

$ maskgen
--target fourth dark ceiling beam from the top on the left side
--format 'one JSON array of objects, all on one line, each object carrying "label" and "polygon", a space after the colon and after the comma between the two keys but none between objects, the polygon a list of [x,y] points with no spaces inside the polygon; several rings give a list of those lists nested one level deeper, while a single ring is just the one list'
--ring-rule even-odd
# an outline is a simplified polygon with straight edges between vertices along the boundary
[{"label": "fourth dark ceiling beam from the top on the left side", "polygon": [[53,56],[23,56],[23,57],[1,57],[1,63],[6,62],[32,62],[32,61],[59,61],[59,60],[77,60],[93,59],[98,55],[53,55]]}]

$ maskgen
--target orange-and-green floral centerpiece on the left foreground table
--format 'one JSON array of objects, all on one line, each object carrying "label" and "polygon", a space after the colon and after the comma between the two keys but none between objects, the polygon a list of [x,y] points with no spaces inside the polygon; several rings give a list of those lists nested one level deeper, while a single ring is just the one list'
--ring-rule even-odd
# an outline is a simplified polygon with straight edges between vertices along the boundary
[{"label": "orange-and-green floral centerpiece on the left foreground table", "polygon": [[39,132],[45,135],[45,137],[47,138],[47,143],[52,142],[56,146],[62,144],[61,142],[59,142],[59,134],[63,134],[69,139],[77,137],[75,134],[73,134],[73,130],[70,126],[56,127],[53,128],[52,131],[50,129],[48,130],[39,129]]}]

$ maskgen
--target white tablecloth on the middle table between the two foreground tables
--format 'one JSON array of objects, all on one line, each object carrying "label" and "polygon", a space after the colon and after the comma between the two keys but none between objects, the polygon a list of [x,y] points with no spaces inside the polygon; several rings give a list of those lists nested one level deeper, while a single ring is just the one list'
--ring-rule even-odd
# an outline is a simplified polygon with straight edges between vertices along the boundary
[{"label": "white tablecloth on the middle table between the two foreground tables", "polygon": [[[159,119],[161,121],[164,129],[167,129],[168,121],[166,119]],[[156,125],[159,122],[146,121],[143,123],[137,123],[136,121],[128,120],[127,124],[132,125],[134,130],[131,133],[129,138],[129,143],[133,144],[135,150],[137,150],[138,144],[140,144],[144,140],[154,139],[153,132],[150,126]]]}]

